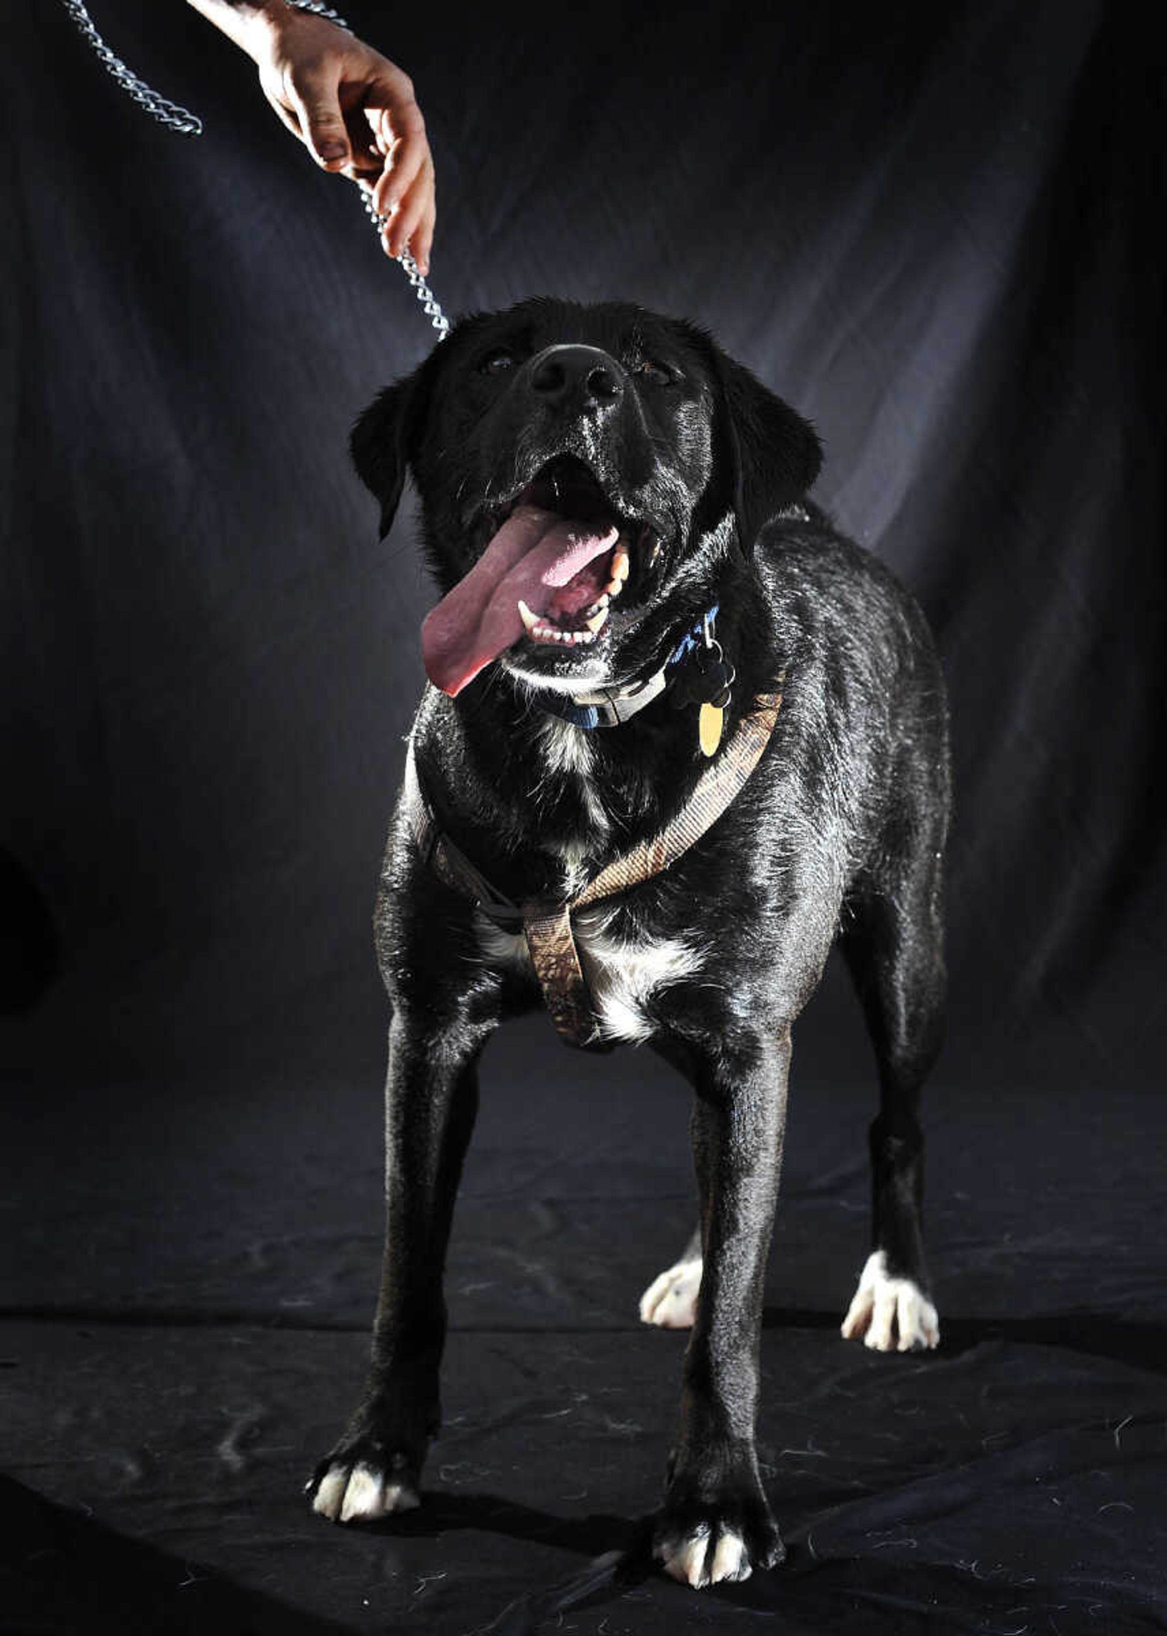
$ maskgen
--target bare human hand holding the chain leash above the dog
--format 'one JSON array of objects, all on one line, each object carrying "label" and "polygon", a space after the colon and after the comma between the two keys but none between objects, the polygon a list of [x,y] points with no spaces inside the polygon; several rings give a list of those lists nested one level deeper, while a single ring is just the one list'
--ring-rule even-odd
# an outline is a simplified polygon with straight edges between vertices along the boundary
[{"label": "bare human hand holding the chain leash above the dog", "polygon": [[409,75],[339,25],[286,5],[252,13],[239,44],[272,108],[321,169],[358,182],[390,218],[386,254],[408,249],[427,273],[434,159]]}]

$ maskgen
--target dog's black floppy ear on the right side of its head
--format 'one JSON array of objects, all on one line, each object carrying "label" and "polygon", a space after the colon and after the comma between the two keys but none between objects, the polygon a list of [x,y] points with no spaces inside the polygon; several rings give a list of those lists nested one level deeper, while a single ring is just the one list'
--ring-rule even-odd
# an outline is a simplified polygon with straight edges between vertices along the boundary
[{"label": "dog's black floppy ear on the right side of its head", "polygon": [[733,517],[738,543],[748,553],[763,524],[807,492],[818,476],[823,450],[815,429],[756,375],[720,347],[710,350]]}]

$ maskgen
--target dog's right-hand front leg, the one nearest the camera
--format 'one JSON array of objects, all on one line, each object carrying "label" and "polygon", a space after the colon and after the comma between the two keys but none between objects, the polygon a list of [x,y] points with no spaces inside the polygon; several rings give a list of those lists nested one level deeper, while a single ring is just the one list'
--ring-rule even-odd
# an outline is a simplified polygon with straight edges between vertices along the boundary
[{"label": "dog's right-hand front leg, the one nearest the camera", "polygon": [[786,1126],[791,1031],[720,1049],[694,1073],[704,1270],[655,1553],[691,1585],[784,1556],[758,1474],[763,1278]]}]

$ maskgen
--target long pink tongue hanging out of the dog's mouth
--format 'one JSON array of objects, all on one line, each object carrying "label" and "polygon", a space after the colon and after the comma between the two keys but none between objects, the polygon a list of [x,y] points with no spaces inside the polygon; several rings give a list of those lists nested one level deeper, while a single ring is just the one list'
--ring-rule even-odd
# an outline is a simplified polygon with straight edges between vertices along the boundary
[{"label": "long pink tongue hanging out of the dog's mouth", "polygon": [[545,614],[556,586],[566,582],[601,551],[611,551],[619,530],[571,522],[538,506],[517,506],[465,579],[442,597],[421,628],[426,674],[444,694],[466,682],[522,636],[522,599],[532,614]]}]

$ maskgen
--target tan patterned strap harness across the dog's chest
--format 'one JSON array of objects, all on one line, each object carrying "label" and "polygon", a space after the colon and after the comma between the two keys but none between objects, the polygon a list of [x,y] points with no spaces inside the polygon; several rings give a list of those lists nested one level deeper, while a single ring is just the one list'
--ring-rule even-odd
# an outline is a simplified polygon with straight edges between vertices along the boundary
[{"label": "tan patterned strap harness across the dog's chest", "polygon": [[[782,682],[784,674],[777,677],[779,689]],[[758,766],[774,731],[781,703],[781,692],[759,694],[755,708],[741,718],[725,749],[701,774],[676,818],[651,841],[642,841],[601,869],[565,903],[516,905],[491,887],[466,854],[437,828],[434,808],[417,779],[412,744],[409,746],[406,813],[422,859],[439,880],[470,898],[488,919],[496,924],[514,924],[516,929],[522,926],[547,1009],[568,1045],[597,1044],[596,1011],[579,964],[571,915],[660,875],[717,823]]]}]

